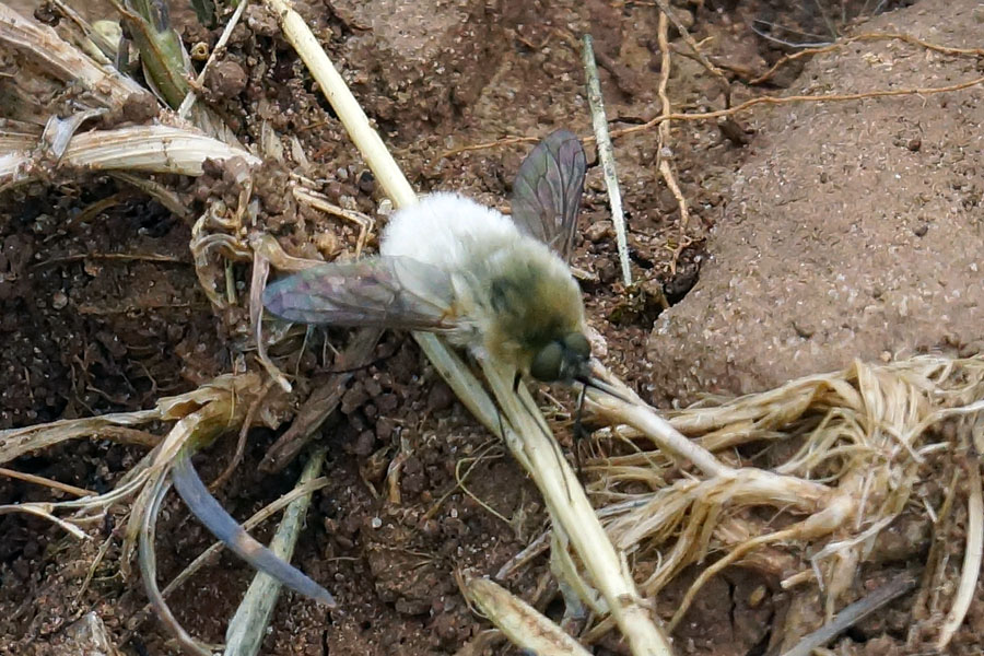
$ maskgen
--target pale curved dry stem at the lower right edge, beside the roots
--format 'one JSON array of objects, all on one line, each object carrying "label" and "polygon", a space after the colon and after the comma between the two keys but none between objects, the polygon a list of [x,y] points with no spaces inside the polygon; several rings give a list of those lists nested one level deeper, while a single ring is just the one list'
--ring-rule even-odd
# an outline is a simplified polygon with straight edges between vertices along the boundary
[{"label": "pale curved dry stem at the lower right edge, beside the roots", "polygon": [[981,559],[984,554],[984,491],[981,483],[981,462],[976,455],[965,456],[963,468],[967,473],[968,500],[967,500],[967,546],[963,551],[963,570],[960,574],[960,585],[953,597],[953,606],[947,613],[939,630],[936,648],[946,651],[953,634],[963,623],[967,611],[970,610],[974,591],[977,587],[977,578],[981,575]]}]

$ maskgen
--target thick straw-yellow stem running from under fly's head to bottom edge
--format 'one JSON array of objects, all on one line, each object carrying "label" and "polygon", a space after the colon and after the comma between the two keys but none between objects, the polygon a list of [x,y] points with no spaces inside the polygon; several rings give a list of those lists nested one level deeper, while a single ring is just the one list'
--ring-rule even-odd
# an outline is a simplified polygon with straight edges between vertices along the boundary
[{"label": "thick straw-yellow stem running from under fly's head to bottom edge", "polygon": [[536,405],[529,391],[520,386],[520,397],[517,397],[513,393],[512,375],[490,362],[482,362],[482,371],[509,426],[516,431],[503,431],[506,446],[534,479],[553,523],[567,534],[633,656],[672,654],[668,639],[644,607],[631,574],[608,539],[546,421],[539,412],[530,411]]}]

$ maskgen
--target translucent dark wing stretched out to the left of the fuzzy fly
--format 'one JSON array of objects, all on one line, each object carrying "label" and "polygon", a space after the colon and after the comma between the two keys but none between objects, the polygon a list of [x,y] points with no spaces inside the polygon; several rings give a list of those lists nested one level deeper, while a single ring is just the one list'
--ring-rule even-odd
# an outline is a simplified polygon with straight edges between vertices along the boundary
[{"label": "translucent dark wing stretched out to the left of the fuzzy fly", "polygon": [[303,324],[453,329],[450,277],[409,257],[324,265],[267,286],[263,305]]}]

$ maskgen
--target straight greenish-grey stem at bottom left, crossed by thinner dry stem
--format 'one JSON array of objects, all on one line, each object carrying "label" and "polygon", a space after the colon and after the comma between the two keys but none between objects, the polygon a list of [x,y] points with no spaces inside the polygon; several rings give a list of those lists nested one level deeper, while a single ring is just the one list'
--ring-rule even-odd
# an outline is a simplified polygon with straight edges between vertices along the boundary
[{"label": "straight greenish-grey stem at bottom left, crossed by thinner dry stem", "polygon": [[[321,465],[325,461],[326,450],[319,448],[315,450],[301,478],[297,479],[297,487],[306,485],[314,479],[318,478],[321,471]],[[294,546],[301,529],[304,527],[304,518],[307,516],[307,508],[311,505],[311,492],[298,496],[288,506],[280,520],[280,526],[270,540],[270,551],[274,555],[290,562],[294,554]],[[270,618],[273,616],[273,607],[280,595],[281,584],[271,576],[258,573],[249,589],[243,597],[239,608],[229,623],[225,631],[225,656],[254,656],[259,653],[263,637],[266,637],[267,626],[270,624]]]}]

